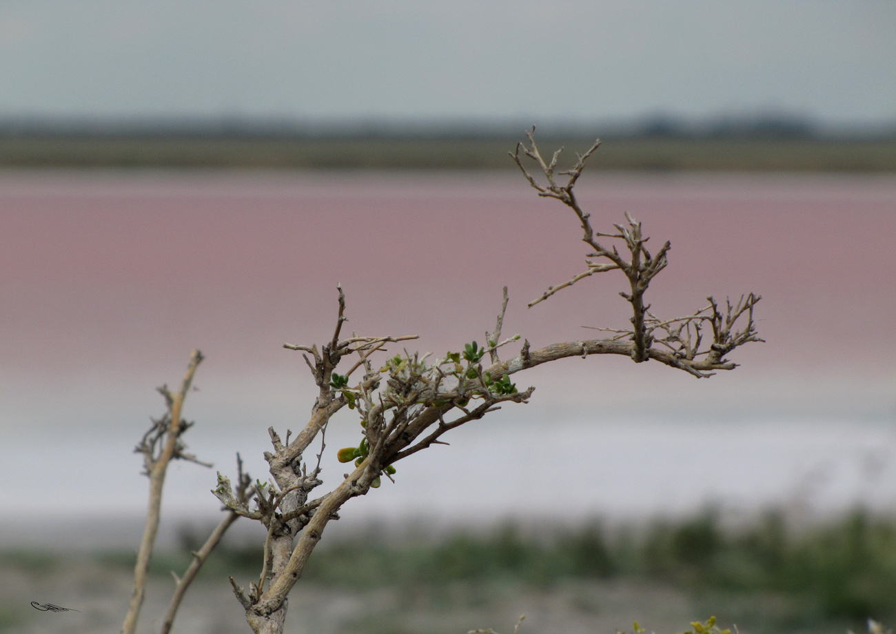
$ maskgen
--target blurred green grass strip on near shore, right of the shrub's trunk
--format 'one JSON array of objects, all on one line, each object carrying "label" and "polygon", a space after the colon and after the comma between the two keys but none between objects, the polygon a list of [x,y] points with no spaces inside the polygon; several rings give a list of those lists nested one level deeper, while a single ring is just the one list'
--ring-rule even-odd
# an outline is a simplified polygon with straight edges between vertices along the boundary
[{"label": "blurred green grass strip on near shore, right of the shrub's trunk", "polygon": [[368,536],[322,545],[303,577],[360,587],[495,579],[547,587],[569,578],[644,578],[697,594],[774,593],[811,604],[822,617],[896,616],[896,523],[865,511],[801,530],[788,528],[777,512],[724,528],[708,511],[647,530],[591,524],[549,534],[505,525],[435,543]]}]

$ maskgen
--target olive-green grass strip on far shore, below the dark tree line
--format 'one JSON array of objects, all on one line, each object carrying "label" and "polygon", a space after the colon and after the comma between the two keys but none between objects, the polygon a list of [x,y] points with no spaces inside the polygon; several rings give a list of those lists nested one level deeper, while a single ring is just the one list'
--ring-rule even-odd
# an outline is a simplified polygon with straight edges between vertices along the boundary
[{"label": "olive-green grass strip on far shore, below the dark tree line", "polygon": [[[0,136],[4,168],[516,169],[506,138]],[[540,138],[583,152],[593,138]],[[607,139],[601,169],[896,171],[896,139],[640,137]]]}]

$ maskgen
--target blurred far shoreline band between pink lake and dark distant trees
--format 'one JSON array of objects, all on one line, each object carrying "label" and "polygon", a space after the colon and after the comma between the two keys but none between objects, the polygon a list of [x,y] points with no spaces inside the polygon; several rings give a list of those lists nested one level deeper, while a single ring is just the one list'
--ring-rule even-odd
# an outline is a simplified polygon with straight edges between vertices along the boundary
[{"label": "blurred far shoreline band between pink lake and dark distant trees", "polygon": [[[896,134],[814,134],[788,127],[647,132],[551,130],[537,134],[543,151],[566,148],[561,167],[594,137],[600,169],[675,171],[896,171]],[[4,126],[0,168],[202,169],[516,169],[507,152],[524,128],[427,133],[421,130],[320,133],[185,127],[96,128]]]}]

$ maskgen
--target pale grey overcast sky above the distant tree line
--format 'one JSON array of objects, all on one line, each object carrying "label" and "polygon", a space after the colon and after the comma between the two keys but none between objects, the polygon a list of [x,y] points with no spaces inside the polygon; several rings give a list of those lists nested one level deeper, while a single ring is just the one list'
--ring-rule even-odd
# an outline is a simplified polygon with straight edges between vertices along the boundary
[{"label": "pale grey overcast sky above the distant tree line", "polygon": [[896,3],[0,4],[0,117],[896,121]]}]

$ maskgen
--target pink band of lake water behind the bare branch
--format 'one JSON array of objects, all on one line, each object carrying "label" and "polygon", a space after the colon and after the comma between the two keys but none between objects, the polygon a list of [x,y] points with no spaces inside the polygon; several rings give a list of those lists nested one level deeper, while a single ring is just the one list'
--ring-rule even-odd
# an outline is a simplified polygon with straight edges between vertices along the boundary
[{"label": "pink band of lake water behind the bare branch", "polygon": [[[598,176],[579,194],[596,227],[628,211],[655,248],[672,241],[650,291],[662,314],[760,292],[771,345],[753,364],[890,364],[896,179]],[[584,269],[580,234],[513,174],[7,173],[4,357],[41,374],[124,369],[200,345],[266,365],[281,339],[330,330],[337,282],[359,331],[456,345],[491,325],[508,284],[510,327],[578,338],[623,323],[618,275],[522,307]]]}]

